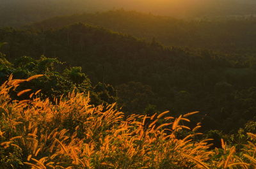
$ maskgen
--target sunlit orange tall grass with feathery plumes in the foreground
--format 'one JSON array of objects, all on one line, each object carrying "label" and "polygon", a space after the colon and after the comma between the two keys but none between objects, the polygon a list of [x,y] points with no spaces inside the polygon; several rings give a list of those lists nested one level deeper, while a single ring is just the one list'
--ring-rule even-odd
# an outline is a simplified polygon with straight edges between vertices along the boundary
[{"label": "sunlit orange tall grass with feathery plumes in the foreground", "polygon": [[[0,87],[0,168],[256,168],[256,135],[241,152],[222,140],[222,149],[210,150],[209,140],[188,128],[189,115],[169,112],[152,116],[124,114],[114,105],[90,105],[90,97],[16,101],[9,92],[33,80],[9,78]],[[18,92],[18,91],[17,91]],[[31,92],[19,91],[18,95]],[[186,136],[178,136],[187,131]]]}]

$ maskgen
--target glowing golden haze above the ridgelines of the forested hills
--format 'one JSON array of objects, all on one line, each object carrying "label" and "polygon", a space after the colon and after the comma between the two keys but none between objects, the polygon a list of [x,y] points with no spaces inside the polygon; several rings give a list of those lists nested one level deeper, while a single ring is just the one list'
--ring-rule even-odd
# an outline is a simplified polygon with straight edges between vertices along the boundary
[{"label": "glowing golden haze above the ridgelines of the forested hills", "polygon": [[0,26],[22,26],[57,15],[106,11],[115,8],[177,18],[256,14],[256,5],[250,0],[2,0]]}]

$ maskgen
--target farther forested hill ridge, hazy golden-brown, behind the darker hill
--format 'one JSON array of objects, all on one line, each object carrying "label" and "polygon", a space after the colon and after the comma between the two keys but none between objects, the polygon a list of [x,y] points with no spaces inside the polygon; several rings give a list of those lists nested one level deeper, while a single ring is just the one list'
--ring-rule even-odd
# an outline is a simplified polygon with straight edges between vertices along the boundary
[{"label": "farther forested hill ridge, hazy golden-brown, behind the darker hill", "polygon": [[156,38],[164,45],[209,48],[242,55],[254,55],[256,52],[255,17],[188,21],[136,11],[114,10],[54,17],[37,22],[33,27],[55,29],[76,22],[106,27],[147,40]]}]

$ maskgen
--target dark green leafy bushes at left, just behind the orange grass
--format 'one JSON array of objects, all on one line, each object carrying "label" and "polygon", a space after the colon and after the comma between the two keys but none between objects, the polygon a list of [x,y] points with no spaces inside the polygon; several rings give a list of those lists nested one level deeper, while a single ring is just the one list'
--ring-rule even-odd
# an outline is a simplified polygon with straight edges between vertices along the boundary
[{"label": "dark green leafy bushes at left, just behind the orange grass", "polygon": [[[44,77],[33,82],[21,84],[18,89],[22,90],[29,87],[33,92],[41,90],[41,98],[49,98],[51,101],[75,90],[76,92],[91,92],[92,104],[115,102],[115,94],[109,93],[108,89],[103,88],[94,92],[95,87],[92,87],[92,82],[82,72],[81,67],[67,68],[58,59],[45,56],[41,56],[40,59],[23,56],[15,59],[13,63],[8,62],[4,54],[0,53],[0,56],[1,83],[7,80],[10,75],[13,75],[14,78],[28,78],[32,75],[44,74]],[[108,85],[108,88],[111,89],[111,85]],[[17,97],[16,94],[15,91],[11,93],[13,99],[29,98],[28,94],[24,94],[22,97]]]}]

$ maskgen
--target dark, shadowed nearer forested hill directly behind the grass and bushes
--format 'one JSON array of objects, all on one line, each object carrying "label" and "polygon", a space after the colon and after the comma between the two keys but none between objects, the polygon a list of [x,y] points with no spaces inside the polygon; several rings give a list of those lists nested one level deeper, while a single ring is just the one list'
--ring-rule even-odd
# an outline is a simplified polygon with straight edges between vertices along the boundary
[{"label": "dark, shadowed nearer forested hill directly behind the grass and bushes", "polygon": [[[8,59],[58,57],[81,66],[95,85],[115,85],[125,113],[200,111],[204,129],[227,132],[253,119],[255,59],[163,47],[106,29],[74,24],[47,31],[1,29]],[[249,107],[249,108],[248,108]]]}]

